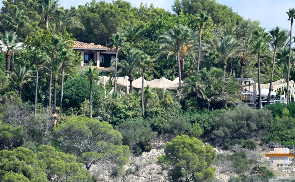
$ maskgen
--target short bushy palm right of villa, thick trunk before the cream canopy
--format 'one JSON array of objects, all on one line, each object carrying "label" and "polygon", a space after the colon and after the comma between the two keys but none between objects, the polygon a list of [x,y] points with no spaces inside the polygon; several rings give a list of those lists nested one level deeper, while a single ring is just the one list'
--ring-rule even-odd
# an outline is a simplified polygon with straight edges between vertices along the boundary
[{"label": "short bushy palm right of villa, thick trunk before the cream canopy", "polygon": [[140,65],[140,54],[142,54],[142,51],[131,49],[128,55],[127,60],[122,60],[121,62],[118,62],[118,66],[121,68],[120,74],[127,75],[128,81],[130,82],[129,88],[130,91],[133,91],[132,81],[134,80],[133,76],[138,71],[139,65]]}]

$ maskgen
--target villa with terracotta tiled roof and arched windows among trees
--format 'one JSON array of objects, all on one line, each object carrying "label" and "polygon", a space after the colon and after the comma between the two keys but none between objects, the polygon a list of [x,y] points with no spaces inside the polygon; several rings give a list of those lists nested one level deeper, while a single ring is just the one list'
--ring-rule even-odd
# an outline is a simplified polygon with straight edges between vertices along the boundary
[{"label": "villa with terracotta tiled roof and arched windows among trees", "polygon": [[100,70],[110,70],[110,62],[115,59],[116,50],[94,43],[84,43],[74,41],[72,47],[75,51],[79,51],[83,57],[81,66],[88,66],[89,61],[92,60],[94,66]]}]

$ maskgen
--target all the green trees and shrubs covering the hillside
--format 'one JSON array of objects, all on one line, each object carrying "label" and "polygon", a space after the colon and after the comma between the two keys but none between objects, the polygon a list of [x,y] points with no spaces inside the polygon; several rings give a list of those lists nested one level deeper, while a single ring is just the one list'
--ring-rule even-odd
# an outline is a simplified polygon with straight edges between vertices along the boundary
[{"label": "all the green trees and shrubs covering the hillside", "polygon": [[[57,0],[3,1],[0,181],[94,182],[95,168],[123,180],[138,174],[124,168],[130,156],[159,140],[165,153],[157,161],[169,181],[212,181],[217,169],[236,174],[230,181],[275,178],[257,151],[295,144],[294,98],[238,107],[234,78],[295,80],[292,34],[267,32],[215,0],[175,0],[172,9],[123,0],[70,9]],[[287,13],[281,21],[292,26],[295,9]],[[81,66],[75,40],[117,51],[111,71],[94,60]],[[180,82],[177,90],[142,84],[127,93],[101,75]]]}]

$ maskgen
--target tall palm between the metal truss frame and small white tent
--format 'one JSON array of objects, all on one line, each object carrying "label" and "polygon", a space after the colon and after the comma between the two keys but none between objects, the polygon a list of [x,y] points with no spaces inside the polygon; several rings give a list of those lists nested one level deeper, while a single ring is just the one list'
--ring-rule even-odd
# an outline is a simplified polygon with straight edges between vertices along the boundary
[{"label": "tall palm between the metal truss frame and small white tent", "polygon": [[269,48],[267,43],[268,33],[264,32],[265,29],[255,29],[254,35],[255,40],[253,41],[252,49],[257,54],[257,65],[258,65],[258,101],[259,101],[259,109],[262,108],[261,103],[261,88],[260,88],[260,56],[261,53],[266,52]]}]

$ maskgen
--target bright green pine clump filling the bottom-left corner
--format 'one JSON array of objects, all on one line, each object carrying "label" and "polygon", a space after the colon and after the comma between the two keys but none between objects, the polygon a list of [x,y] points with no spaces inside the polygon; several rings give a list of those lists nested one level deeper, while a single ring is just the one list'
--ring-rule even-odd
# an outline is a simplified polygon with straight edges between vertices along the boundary
[{"label": "bright green pine clump filling the bottom-left corner", "polygon": [[92,176],[76,157],[43,145],[38,153],[19,147],[0,151],[0,181],[84,181]]}]

